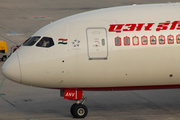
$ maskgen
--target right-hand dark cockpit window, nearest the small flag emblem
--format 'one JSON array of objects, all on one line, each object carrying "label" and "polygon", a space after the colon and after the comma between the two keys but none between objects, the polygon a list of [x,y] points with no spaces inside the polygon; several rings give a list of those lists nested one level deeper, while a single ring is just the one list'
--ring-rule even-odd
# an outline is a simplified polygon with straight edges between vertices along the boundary
[{"label": "right-hand dark cockpit window, nearest the small flag emblem", "polygon": [[50,37],[43,37],[37,44],[37,47],[51,47],[54,45],[53,39]]}]

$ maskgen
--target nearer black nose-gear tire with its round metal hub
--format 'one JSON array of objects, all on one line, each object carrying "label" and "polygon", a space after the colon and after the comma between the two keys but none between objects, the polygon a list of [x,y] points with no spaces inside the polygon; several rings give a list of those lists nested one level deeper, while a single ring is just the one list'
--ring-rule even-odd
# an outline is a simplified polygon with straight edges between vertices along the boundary
[{"label": "nearer black nose-gear tire with its round metal hub", "polygon": [[88,113],[87,107],[82,104],[76,104],[72,109],[72,115],[75,118],[84,118],[87,116],[87,113]]}]

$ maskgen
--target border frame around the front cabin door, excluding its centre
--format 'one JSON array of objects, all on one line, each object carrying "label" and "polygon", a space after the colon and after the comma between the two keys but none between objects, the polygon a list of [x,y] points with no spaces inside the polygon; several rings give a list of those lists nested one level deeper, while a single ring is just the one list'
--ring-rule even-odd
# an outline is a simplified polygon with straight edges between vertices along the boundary
[{"label": "border frame around the front cabin door, excluding its centre", "polygon": [[[103,30],[105,30],[105,43],[106,43],[106,56],[103,56],[103,57],[92,57],[92,56],[90,56],[90,53],[89,53],[89,51],[90,51],[90,44],[89,44],[89,40],[88,40],[88,30],[89,29],[94,29],[94,30],[96,30],[96,29],[103,29]],[[89,57],[89,60],[107,60],[107,58],[108,58],[108,37],[107,37],[107,29],[105,28],[105,27],[88,27],[87,29],[86,29],[86,40],[87,40],[87,55],[88,55],[88,57]]]}]

